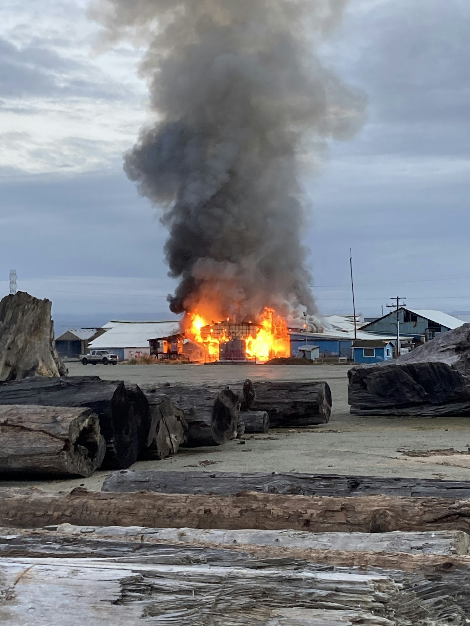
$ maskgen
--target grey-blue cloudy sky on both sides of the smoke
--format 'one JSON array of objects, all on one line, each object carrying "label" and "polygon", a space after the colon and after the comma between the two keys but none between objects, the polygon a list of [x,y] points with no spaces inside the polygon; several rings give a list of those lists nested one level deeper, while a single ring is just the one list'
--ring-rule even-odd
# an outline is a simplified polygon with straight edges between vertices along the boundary
[{"label": "grey-blue cloudy sky on both sides of the smoke", "polygon": [[[0,9],[0,295],[50,297],[55,314],[162,317],[166,233],[122,172],[147,116],[140,51],[101,51],[83,0]],[[368,120],[331,146],[305,228],[323,313],[392,295],[470,310],[470,4],[351,0],[325,58],[363,90]]]}]

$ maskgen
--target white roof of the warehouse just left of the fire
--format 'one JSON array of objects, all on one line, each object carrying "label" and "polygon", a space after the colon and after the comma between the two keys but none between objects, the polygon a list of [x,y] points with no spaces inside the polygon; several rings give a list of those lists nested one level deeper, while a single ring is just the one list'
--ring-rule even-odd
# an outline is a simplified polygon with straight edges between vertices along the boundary
[{"label": "white roof of the warehouse just left of the fire", "polygon": [[90,343],[92,349],[149,347],[149,339],[170,337],[180,332],[179,322],[112,322],[113,326]]}]

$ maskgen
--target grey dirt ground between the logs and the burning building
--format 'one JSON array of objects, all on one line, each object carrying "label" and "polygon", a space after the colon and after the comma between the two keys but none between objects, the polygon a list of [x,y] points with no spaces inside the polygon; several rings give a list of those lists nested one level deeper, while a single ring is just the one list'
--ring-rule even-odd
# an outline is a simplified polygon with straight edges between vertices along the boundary
[{"label": "grey dirt ground between the logs and the burning building", "polygon": [[[142,461],[133,469],[208,471],[298,471],[368,476],[404,476],[470,480],[470,456],[407,457],[400,449],[470,448],[469,418],[367,418],[350,415],[348,366],[82,366],[69,363],[70,376],[101,376],[135,383],[219,382],[256,380],[326,380],[332,388],[329,424],[267,435],[246,435],[220,448],[185,449],[165,461]],[[60,490],[84,485],[99,490],[109,472],[88,479],[34,483]],[[5,484],[5,483],[3,483]],[[21,485],[21,483],[9,483]],[[24,485],[24,483],[23,483]]]}]

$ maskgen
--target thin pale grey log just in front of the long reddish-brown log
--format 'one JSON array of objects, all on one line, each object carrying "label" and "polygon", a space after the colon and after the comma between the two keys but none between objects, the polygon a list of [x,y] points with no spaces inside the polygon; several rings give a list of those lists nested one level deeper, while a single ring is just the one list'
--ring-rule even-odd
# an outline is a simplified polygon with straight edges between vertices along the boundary
[{"label": "thin pale grey log just in front of the long reddish-brown log", "polygon": [[[126,538],[172,545],[272,546],[299,550],[341,550],[349,552],[403,552],[412,554],[470,554],[470,538],[461,530],[392,533],[311,533],[293,530],[212,530],[199,528],[143,528],[142,526],[71,526],[57,530],[83,538]],[[33,531],[34,532],[34,531]],[[36,531],[37,532],[37,531]],[[1,543],[1,538],[0,538]],[[50,556],[53,556],[51,553]]]}]

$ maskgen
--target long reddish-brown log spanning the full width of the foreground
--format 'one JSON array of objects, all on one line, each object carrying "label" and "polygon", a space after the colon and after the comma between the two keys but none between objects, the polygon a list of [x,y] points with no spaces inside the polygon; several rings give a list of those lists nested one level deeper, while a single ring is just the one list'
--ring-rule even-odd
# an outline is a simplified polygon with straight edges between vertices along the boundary
[{"label": "long reddish-brown log spanning the full width of the foreground", "polygon": [[238,496],[70,493],[0,489],[0,524],[75,525],[311,532],[470,531],[470,500],[362,496],[328,498],[244,493]]}]

